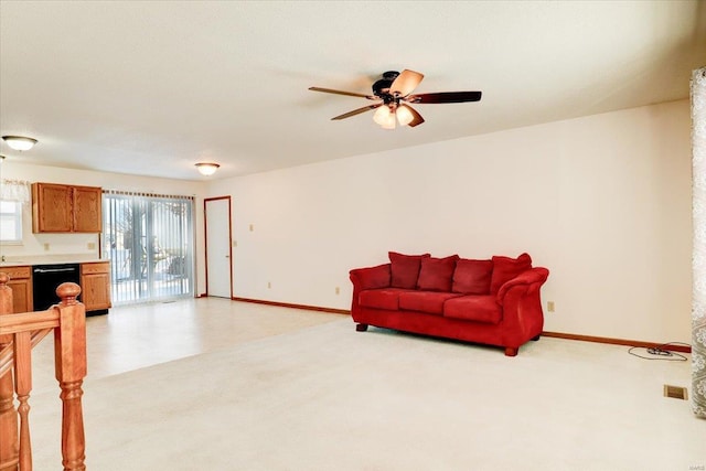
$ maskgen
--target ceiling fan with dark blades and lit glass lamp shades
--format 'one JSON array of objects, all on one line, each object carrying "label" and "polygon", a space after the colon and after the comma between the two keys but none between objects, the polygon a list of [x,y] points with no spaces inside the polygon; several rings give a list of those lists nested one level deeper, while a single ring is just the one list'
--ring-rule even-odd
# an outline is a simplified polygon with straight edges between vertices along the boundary
[{"label": "ceiling fan with dark blades and lit glass lamp shades", "polygon": [[395,129],[397,121],[399,121],[402,126],[409,127],[421,125],[424,118],[409,106],[409,104],[466,103],[479,101],[481,99],[481,92],[438,92],[413,95],[411,92],[419,85],[422,78],[424,75],[415,71],[404,69],[402,73],[396,71],[385,72],[383,77],[373,84],[373,95],[321,87],[309,87],[309,89],[335,95],[357,96],[377,101],[331,119],[345,119],[367,110],[377,109],[373,116],[373,120],[384,129]]}]

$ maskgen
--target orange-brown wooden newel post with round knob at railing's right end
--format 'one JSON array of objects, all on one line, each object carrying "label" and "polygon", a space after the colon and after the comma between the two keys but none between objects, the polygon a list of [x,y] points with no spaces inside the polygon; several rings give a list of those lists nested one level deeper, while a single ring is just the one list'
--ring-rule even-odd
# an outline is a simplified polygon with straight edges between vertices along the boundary
[{"label": "orange-brown wooden newel post with round knob at railing's right end", "polygon": [[85,470],[86,439],[81,397],[86,377],[86,309],[76,300],[81,287],[64,282],[56,288],[62,302],[58,328],[54,329],[54,364],[62,388],[62,456],[65,471]]}]

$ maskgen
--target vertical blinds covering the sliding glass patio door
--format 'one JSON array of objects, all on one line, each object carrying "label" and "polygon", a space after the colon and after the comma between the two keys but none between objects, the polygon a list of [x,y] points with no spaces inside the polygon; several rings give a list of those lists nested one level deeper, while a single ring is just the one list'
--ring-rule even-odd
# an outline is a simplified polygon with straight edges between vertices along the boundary
[{"label": "vertical blinds covering the sliding glass patio door", "polygon": [[113,303],[193,296],[193,196],[103,193]]}]

